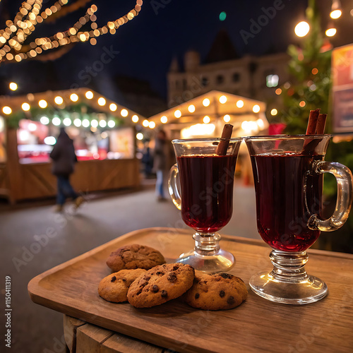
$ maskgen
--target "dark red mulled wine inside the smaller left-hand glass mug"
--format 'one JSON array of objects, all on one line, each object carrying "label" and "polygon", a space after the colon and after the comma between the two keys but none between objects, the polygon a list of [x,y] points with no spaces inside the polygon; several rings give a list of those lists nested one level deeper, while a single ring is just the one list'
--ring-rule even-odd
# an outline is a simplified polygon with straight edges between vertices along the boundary
[{"label": "dark red mulled wine inside the smaller left-hand glass mug", "polygon": [[237,155],[188,155],[177,162],[181,217],[197,232],[217,232],[232,217]]}]

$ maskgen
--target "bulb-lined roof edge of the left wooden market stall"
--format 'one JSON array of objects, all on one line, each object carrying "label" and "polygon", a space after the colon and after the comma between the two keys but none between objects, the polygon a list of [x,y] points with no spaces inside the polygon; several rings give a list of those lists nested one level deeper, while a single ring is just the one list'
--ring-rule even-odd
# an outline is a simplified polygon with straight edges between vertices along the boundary
[{"label": "bulb-lined roof edge of the left wooden market stall", "polygon": [[117,119],[124,119],[128,125],[145,119],[144,116],[121,104],[108,100],[100,93],[88,88],[60,91],[48,90],[47,92],[29,93],[28,95],[15,97],[0,96],[0,114],[8,116],[9,119],[11,119],[11,114],[18,112],[23,112],[25,114],[24,117],[30,118],[32,109],[35,112],[43,109],[43,112],[49,110],[54,113],[61,109],[67,109],[69,112],[72,109],[73,112],[76,112],[81,107],[90,107],[97,113],[109,114]]}]

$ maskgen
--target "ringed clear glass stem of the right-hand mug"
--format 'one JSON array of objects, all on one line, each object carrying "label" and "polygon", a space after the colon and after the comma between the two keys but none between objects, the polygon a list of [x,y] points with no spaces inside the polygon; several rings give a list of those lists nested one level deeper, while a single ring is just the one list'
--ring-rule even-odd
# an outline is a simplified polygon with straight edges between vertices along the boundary
[{"label": "ringed clear glass stem of the right-hand mug", "polygon": [[273,250],[270,259],[273,270],[270,273],[275,279],[282,282],[301,282],[308,278],[304,265],[308,262],[306,251],[285,252]]}]

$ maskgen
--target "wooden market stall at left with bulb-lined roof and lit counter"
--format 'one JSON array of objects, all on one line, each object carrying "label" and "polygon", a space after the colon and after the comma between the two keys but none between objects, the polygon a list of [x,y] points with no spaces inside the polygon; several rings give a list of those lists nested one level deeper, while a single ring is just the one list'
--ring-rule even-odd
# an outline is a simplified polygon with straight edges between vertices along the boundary
[{"label": "wooden market stall at left with bulb-lined roof and lit counter", "polygon": [[79,88],[0,97],[0,195],[11,202],[56,194],[49,154],[61,127],[78,157],[73,186],[80,192],[139,185],[135,112]]}]

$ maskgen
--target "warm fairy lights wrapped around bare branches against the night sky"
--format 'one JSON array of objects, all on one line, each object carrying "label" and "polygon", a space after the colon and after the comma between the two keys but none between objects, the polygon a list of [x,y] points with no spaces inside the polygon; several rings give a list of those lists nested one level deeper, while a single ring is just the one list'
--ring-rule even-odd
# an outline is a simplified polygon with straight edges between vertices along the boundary
[{"label": "warm fairy lights wrapped around bare branches against the night sky", "polygon": [[[1,1],[1,0],[0,0]],[[78,3],[85,4],[88,0],[80,0]],[[24,1],[16,14],[14,20],[6,21],[6,28],[0,30],[0,63],[4,61],[23,61],[25,59],[33,59],[37,55],[49,49],[56,49],[68,44],[77,42],[90,42],[97,44],[97,37],[110,33],[115,34],[116,30],[129,20],[133,20],[140,12],[143,0],[136,0],[135,7],[120,18],[107,22],[106,25],[98,28],[96,20],[97,6],[90,6],[85,16],[81,17],[71,28],[62,32],[57,32],[51,37],[38,37],[29,44],[24,45],[25,40],[35,30],[38,23],[43,23],[54,13],[61,10],[63,6],[68,4],[68,0],[59,0],[53,6],[45,8],[42,11],[43,0],[27,0]],[[78,4],[80,5],[80,4]],[[76,6],[77,7],[77,6]],[[42,12],[40,12],[42,11]],[[91,29],[80,31],[80,29],[91,22]]]}]

